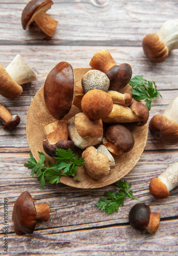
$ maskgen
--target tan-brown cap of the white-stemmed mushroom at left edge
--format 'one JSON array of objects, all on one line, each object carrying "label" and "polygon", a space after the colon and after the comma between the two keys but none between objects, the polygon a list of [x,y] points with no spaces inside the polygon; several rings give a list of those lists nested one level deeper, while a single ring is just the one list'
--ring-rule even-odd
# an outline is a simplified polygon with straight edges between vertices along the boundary
[{"label": "tan-brown cap of the white-stemmed mushroom at left edge", "polygon": [[22,91],[22,87],[12,79],[0,64],[0,94],[6,98],[15,98],[19,96]]}]

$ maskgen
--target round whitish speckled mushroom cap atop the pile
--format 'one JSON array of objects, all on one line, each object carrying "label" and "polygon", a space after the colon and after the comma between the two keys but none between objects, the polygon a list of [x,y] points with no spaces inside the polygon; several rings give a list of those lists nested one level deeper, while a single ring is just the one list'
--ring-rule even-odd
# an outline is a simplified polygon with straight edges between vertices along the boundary
[{"label": "round whitish speckled mushroom cap atop the pile", "polygon": [[84,93],[90,90],[98,89],[107,92],[110,86],[110,81],[107,75],[99,70],[89,70],[82,77],[82,88]]}]

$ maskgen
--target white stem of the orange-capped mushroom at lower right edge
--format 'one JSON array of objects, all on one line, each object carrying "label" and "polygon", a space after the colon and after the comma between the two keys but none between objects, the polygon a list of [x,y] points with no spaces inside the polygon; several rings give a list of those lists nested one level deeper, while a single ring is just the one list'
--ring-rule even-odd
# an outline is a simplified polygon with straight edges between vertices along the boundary
[{"label": "white stem of the orange-capped mushroom at lower right edge", "polygon": [[168,191],[178,186],[178,162],[170,165],[158,178],[166,185]]}]

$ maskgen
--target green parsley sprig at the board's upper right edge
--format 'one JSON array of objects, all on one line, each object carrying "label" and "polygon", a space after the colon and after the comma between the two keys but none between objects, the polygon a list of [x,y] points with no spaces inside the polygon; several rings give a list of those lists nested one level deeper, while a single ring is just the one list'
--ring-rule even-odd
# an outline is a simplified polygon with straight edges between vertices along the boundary
[{"label": "green parsley sprig at the board's upper right edge", "polygon": [[161,96],[160,92],[157,90],[155,82],[147,81],[143,79],[141,75],[133,77],[129,84],[132,87],[133,98],[137,101],[144,99],[148,110],[151,109],[152,101],[154,101],[158,95]]}]

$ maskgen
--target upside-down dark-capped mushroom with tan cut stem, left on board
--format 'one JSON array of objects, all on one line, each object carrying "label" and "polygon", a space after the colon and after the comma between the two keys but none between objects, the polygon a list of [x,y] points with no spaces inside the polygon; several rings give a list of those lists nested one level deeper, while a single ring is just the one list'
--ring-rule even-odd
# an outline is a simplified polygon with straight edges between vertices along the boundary
[{"label": "upside-down dark-capped mushroom with tan cut stem, left on board", "polygon": [[74,143],[68,140],[68,127],[66,120],[58,120],[44,126],[44,133],[46,135],[43,140],[43,150],[51,157],[56,157],[56,148],[63,150],[73,150]]}]

